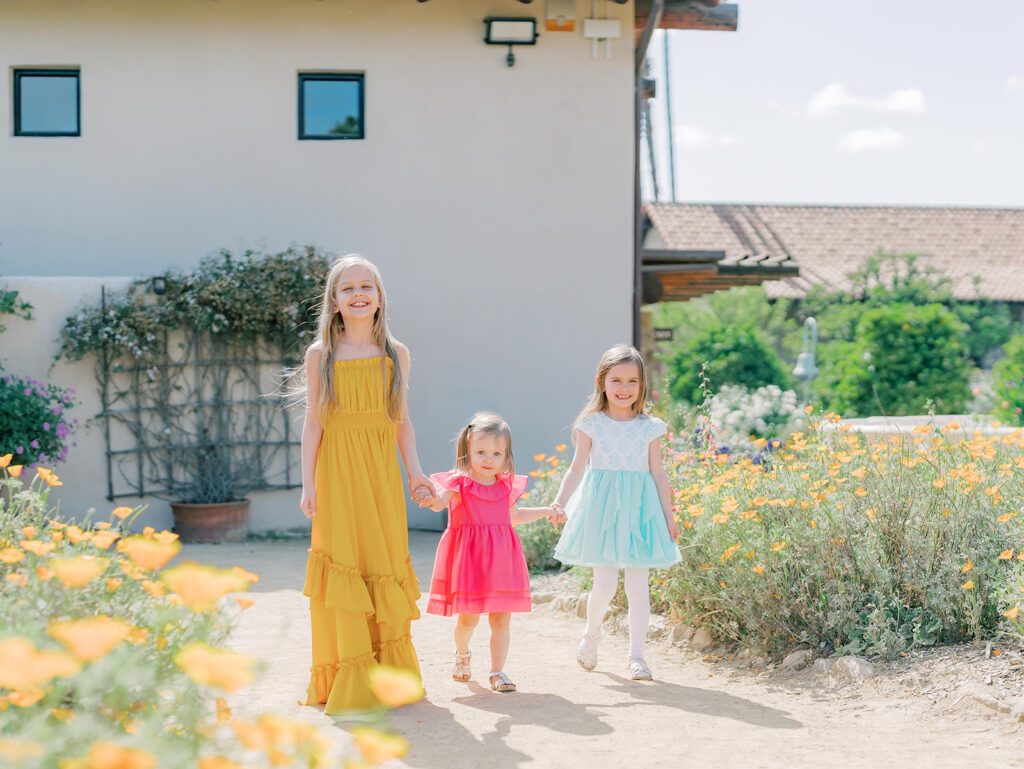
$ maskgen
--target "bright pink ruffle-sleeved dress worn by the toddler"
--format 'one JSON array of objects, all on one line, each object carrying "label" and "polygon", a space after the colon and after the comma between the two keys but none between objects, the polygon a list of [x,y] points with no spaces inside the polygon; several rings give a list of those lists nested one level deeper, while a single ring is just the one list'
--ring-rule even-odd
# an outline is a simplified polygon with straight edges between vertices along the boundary
[{"label": "bright pink ruffle-sleeved dress worn by the toddler", "polygon": [[449,525],[437,544],[427,611],[529,611],[529,571],[510,516],[526,490],[526,476],[499,475],[490,485],[457,472],[430,478],[458,496],[449,504]]}]

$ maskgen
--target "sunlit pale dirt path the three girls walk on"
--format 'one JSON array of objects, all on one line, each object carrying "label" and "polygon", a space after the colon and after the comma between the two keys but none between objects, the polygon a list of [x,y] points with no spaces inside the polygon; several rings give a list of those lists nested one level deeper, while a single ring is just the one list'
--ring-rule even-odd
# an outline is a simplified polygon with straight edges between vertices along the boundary
[{"label": "sunlit pale dirt path the three girls walk on", "polygon": [[[437,535],[412,532],[421,582]],[[274,711],[348,736],[297,701],[309,665],[306,602],[299,588],[305,544],[257,542],[186,546],[182,556],[260,574],[255,605],[241,613],[232,646],[266,664],[265,675],[231,699],[239,711]],[[626,639],[605,636],[597,671],[575,664],[583,621],[548,606],[515,615],[506,670],[514,694],[485,688],[487,634],[473,639],[474,680],[451,679],[452,621],[424,614],[413,638],[427,698],[392,713],[411,742],[403,763],[462,767],[1024,767],[1024,731],[976,708],[940,713],[921,697],[893,697],[871,684],[826,689],[810,676],[758,677],[699,659],[664,643],[648,645],[655,681],[625,676]]]}]

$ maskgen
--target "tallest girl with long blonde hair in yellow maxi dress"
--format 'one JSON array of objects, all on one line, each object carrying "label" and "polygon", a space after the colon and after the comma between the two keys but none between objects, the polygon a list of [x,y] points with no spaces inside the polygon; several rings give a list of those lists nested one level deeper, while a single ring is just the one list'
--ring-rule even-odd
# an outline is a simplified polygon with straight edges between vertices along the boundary
[{"label": "tallest girl with long blonde hair in yellow maxi dress", "polygon": [[377,267],[343,257],[328,273],[305,354],[299,504],[312,518],[303,593],[313,641],[306,704],[328,714],[379,706],[368,680],[376,665],[420,673],[410,636],[420,591],[395,444],[413,499],[429,498],[433,486],[409,418],[409,350],[388,332],[386,309]]}]

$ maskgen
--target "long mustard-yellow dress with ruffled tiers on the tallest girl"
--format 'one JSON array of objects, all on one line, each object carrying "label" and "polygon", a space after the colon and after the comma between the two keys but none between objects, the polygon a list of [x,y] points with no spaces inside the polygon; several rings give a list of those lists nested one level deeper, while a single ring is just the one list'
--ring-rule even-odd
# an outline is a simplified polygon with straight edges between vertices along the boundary
[{"label": "long mustard-yellow dress with ruffled tiers on the tallest girl", "polygon": [[[386,360],[391,375],[391,360]],[[335,364],[338,407],[316,455],[316,515],[303,593],[313,661],[306,704],[325,713],[379,707],[369,670],[420,674],[410,623],[420,616],[409,557],[394,425],[384,409],[381,357]]]}]

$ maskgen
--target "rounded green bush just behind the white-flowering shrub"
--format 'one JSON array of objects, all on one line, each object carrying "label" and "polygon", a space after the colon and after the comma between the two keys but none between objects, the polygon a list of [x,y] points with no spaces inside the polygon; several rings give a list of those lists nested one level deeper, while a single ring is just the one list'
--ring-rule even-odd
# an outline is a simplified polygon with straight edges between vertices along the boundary
[{"label": "rounded green bush just behind the white-flowering shrub", "polygon": [[688,403],[703,400],[700,369],[707,364],[712,388],[741,385],[756,389],[778,385],[785,389],[790,375],[781,358],[754,326],[708,326],[680,345],[670,361],[673,397]]}]

